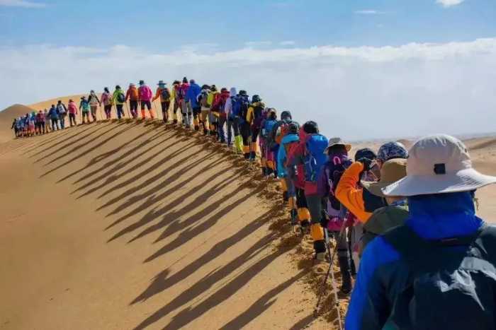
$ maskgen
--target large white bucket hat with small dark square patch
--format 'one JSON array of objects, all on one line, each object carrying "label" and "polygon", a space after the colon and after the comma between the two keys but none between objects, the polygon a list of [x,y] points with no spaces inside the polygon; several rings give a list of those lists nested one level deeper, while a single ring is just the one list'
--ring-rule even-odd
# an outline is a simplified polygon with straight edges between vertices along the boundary
[{"label": "large white bucket hat with small dark square patch", "polygon": [[472,191],[496,182],[477,172],[466,146],[453,136],[427,136],[410,149],[407,176],[383,189],[385,196],[416,196]]}]

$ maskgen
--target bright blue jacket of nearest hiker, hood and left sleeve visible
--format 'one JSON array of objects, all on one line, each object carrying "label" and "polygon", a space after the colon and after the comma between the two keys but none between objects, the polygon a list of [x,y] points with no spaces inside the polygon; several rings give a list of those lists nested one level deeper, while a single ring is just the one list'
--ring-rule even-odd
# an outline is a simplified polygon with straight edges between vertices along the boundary
[{"label": "bright blue jacket of nearest hiker, hood and left sleeve visible", "polygon": [[[484,223],[475,216],[470,192],[414,196],[408,204],[410,218],[406,225],[426,240],[470,235]],[[391,312],[390,298],[395,296],[390,288],[395,283],[385,288],[380,274],[386,268],[389,273],[399,271],[400,259],[382,236],[367,245],[346,314],[346,330],[383,329]]]}]

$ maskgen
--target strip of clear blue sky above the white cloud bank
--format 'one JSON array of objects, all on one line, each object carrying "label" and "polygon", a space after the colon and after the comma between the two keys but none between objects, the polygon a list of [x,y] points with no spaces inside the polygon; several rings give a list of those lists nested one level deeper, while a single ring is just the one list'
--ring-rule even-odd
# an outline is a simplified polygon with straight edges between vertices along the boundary
[{"label": "strip of clear blue sky above the white cloud bank", "polygon": [[496,35],[494,0],[466,0],[449,7],[436,0],[3,2],[21,4],[1,6],[0,1],[4,46],[129,45],[164,51],[191,46],[208,51],[237,49],[245,42],[380,46]]}]

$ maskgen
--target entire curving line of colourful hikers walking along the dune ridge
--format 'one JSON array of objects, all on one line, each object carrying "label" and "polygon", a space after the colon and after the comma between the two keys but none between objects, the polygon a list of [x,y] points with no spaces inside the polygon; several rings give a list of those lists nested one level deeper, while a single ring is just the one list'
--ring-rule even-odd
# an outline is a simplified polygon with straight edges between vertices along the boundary
[{"label": "entire curving line of colourful hikers walking along the dune ridge", "polygon": [[[145,109],[153,119],[158,99],[165,123],[171,110],[173,124],[203,131],[249,161],[259,156],[264,177],[281,182],[291,225],[312,237],[315,263],[332,261],[327,237],[334,240],[340,290],[354,288],[346,329],[496,329],[496,230],[475,216],[476,189],[496,177],[473,169],[461,141],[427,136],[410,151],[393,141],[351,158],[351,144],[327,139],[316,122],[300,125],[259,95],[186,78],[171,89],[159,81],[154,94],[144,81],[126,93],[105,88],[101,98],[92,91],[66,112],[96,120],[103,103],[107,119],[113,105],[120,119],[129,102],[131,117],[140,105],[142,119]],[[46,120],[46,111],[38,114]],[[28,126],[38,114],[26,116]]]}]

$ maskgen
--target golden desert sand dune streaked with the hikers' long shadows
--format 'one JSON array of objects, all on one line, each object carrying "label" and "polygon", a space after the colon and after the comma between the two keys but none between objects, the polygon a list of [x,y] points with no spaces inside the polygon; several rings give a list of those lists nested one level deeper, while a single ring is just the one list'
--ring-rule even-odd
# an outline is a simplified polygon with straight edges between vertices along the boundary
[{"label": "golden desert sand dune streaked with the hikers' long shadows", "polygon": [[[13,139],[26,110],[0,112],[0,329],[333,328],[325,265],[254,165],[159,122]],[[496,139],[466,142],[496,175]],[[495,187],[478,197],[496,220]]]}]

